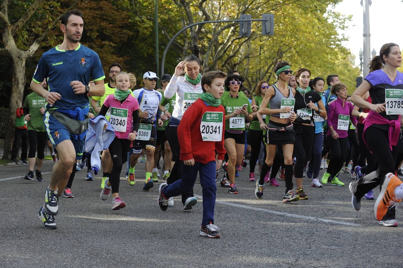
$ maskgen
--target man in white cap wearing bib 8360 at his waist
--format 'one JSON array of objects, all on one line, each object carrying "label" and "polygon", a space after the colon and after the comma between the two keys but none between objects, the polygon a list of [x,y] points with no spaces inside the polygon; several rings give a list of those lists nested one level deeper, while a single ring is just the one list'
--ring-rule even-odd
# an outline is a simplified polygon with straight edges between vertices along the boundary
[{"label": "man in white cap wearing bib 8360 at his waist", "polygon": [[143,190],[148,191],[154,186],[151,179],[154,167],[154,151],[156,142],[156,123],[162,126],[161,113],[158,105],[162,99],[160,92],[154,88],[157,85],[157,74],[155,72],[145,72],[143,74],[144,87],[133,91],[134,97],[139,102],[140,126],[137,138],[133,141],[133,155],[130,157],[129,183],[135,181],[134,167],[139,159],[141,149],[145,149],[147,161],[145,161],[145,182]]}]

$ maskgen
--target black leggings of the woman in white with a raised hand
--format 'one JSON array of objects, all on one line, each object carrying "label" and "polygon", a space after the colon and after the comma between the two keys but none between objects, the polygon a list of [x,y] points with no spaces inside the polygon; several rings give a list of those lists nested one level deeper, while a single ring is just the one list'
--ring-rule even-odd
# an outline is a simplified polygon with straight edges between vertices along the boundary
[{"label": "black leggings of the woman in white with a raised hand", "polygon": [[[170,175],[166,180],[166,183],[171,184],[177,181],[178,179],[182,179],[182,161],[179,160],[179,157],[181,156],[181,148],[179,147],[177,126],[168,126],[168,142],[172,151],[172,161],[175,162],[170,172]],[[193,189],[189,193],[183,193],[182,203],[185,204],[186,199],[192,196],[193,196]]]}]

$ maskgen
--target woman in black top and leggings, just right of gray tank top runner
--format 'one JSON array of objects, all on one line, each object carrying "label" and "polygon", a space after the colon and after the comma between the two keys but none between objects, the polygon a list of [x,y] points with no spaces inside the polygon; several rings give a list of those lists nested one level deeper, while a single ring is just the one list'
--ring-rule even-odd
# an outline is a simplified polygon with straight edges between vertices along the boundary
[{"label": "woman in black top and leggings, just right of gray tank top runner", "polygon": [[[301,68],[295,73],[297,92],[295,93],[295,111],[297,119],[294,122],[295,143],[294,155],[297,161],[294,165],[295,182],[299,199],[308,199],[302,188],[303,168],[311,157],[315,137],[315,113],[326,118],[326,109],[319,93],[309,87],[311,71]],[[320,187],[318,185],[318,187]]]}]

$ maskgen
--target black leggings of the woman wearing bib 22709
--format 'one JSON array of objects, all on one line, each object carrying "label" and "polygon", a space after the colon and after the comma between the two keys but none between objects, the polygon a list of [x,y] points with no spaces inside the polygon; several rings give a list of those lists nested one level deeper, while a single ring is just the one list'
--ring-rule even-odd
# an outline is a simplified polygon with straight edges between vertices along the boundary
[{"label": "black leggings of the woman wearing bib 22709", "polygon": [[330,161],[327,172],[330,173],[330,177],[334,178],[339,174],[343,167],[344,159],[349,151],[349,137],[334,139],[328,136],[328,143],[330,146]]}]

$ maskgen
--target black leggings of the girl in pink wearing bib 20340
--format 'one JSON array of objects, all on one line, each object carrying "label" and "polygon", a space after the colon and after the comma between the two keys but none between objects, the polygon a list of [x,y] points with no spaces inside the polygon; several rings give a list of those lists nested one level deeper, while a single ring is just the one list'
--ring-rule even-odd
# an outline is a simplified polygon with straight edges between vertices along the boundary
[{"label": "black leggings of the girl in pink wearing bib 20340", "polygon": [[112,158],[112,171],[110,171],[109,181],[112,186],[112,193],[119,192],[120,171],[122,165],[127,160],[127,151],[130,148],[130,140],[114,138],[109,145],[109,153]]}]

